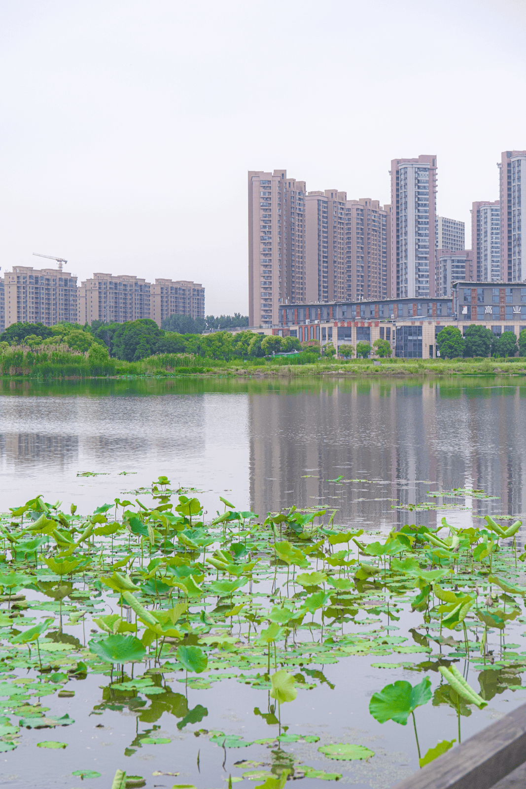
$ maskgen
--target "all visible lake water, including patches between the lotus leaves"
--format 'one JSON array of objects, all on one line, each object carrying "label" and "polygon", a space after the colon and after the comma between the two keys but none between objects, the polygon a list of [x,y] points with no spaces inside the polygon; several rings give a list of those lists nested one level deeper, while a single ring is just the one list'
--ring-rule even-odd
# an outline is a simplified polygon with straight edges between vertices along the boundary
[{"label": "all visible lake water, including patches between the lotus leaves", "polygon": [[[293,504],[337,510],[334,522],[384,535],[405,523],[435,525],[444,516],[456,525],[483,525],[483,514],[520,517],[526,509],[524,436],[522,378],[2,381],[0,511],[43,494],[50,502],[61,499],[65,511],[76,503],[89,513],[116,495],[132,498],[132,492],[166,474],[172,487],[197,489],[208,518],[223,495],[239,509],[261,515]],[[86,472],[97,476],[78,476]],[[468,492],[432,498],[453,488],[483,489],[495,498]],[[411,508],[423,501],[438,504],[438,509]],[[521,535],[518,542],[524,544]],[[524,578],[517,582],[524,583]],[[28,593],[28,600],[37,598],[38,593]],[[110,596],[100,602],[106,613],[115,609]],[[400,633],[412,625],[412,615],[402,611]],[[90,638],[90,626],[88,617],[84,630],[66,625],[65,633],[83,643]],[[509,638],[526,649],[522,628],[524,623],[512,623]],[[419,659],[422,656],[405,654],[391,660]],[[325,759],[321,764],[320,743],[295,743],[286,750],[292,760],[343,772],[343,783],[387,789],[418,767],[414,740],[410,725],[377,724],[368,703],[388,682],[403,677],[415,684],[422,675],[401,671],[396,667],[400,664],[392,670],[374,668],[371,660],[382,659],[353,656],[314,666],[323,671],[323,684],[301,691],[293,705],[286,705],[286,718],[290,731],[314,733],[321,743],[361,743],[375,750],[375,758],[368,763]],[[432,670],[431,680],[437,686],[440,675]],[[16,750],[0,753],[0,785],[97,789],[109,787],[115,769],[125,768],[144,776],[148,789],[173,783],[217,789],[226,786],[229,773],[241,776],[236,761],[269,763],[265,746],[251,746],[228,749],[223,768],[223,750],[193,733],[206,725],[247,739],[268,737],[271,727],[254,712],[258,705],[267,708],[266,691],[234,679],[188,691],[189,704],[207,705],[207,719],[180,731],[179,719],[169,709],[159,708],[157,716],[106,705],[94,715],[108,682],[89,673],[83,682],[69,682],[76,690],[74,698],[43,698],[50,715],[68,712],[76,723],[58,730],[24,730]],[[472,684],[478,690],[476,679]],[[498,690],[487,708],[473,708],[473,714],[462,719],[463,739],[524,700],[524,692]],[[453,739],[457,727],[450,708],[427,712],[431,705],[417,713],[423,750],[435,745],[436,731]],[[125,755],[136,735],[152,727],[157,727],[155,736],[170,737],[172,744],[143,746]],[[36,752],[35,743],[43,739],[63,739],[69,746]],[[103,777],[81,784],[72,776],[80,768],[98,770]],[[155,777],[155,771],[179,775]],[[244,780],[243,786],[256,783]],[[304,784],[314,789],[327,785],[316,779],[304,779]]]}]

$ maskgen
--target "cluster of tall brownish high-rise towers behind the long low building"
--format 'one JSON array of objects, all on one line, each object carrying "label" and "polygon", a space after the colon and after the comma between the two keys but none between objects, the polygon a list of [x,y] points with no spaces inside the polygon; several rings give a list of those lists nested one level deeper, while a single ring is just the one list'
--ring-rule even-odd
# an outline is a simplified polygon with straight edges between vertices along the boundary
[{"label": "cluster of tall brownish high-rise towers behind the long low building", "polygon": [[286,170],[249,171],[249,324],[283,325],[285,305],[451,298],[461,280],[526,281],[526,151],[503,151],[498,170],[499,200],[472,204],[471,249],[464,222],[438,215],[436,155],[393,159],[384,205],[308,192]]}]

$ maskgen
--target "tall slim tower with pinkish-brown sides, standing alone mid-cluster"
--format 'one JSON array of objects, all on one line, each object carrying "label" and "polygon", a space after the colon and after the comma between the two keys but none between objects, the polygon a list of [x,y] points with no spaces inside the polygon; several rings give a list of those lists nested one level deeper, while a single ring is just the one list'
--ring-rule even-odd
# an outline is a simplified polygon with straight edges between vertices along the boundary
[{"label": "tall slim tower with pinkish-brown sides, standing alone mid-cluster", "polygon": [[393,159],[390,176],[391,295],[426,298],[434,288],[436,155]]}]

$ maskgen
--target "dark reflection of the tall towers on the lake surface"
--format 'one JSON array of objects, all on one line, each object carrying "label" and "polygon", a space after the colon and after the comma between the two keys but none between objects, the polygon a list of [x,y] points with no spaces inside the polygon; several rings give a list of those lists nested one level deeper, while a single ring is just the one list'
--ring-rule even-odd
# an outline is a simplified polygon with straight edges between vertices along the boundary
[{"label": "dark reflection of the tall towers on the lake surface", "polygon": [[[427,491],[472,485],[500,497],[491,511],[518,514],[525,412],[518,387],[509,396],[502,391],[476,383],[346,380],[252,395],[252,509],[266,514],[319,503],[339,508],[337,522],[369,528],[435,524],[434,511],[393,510],[386,499],[415,504],[428,499]],[[339,476],[372,484],[330,482]]]}]

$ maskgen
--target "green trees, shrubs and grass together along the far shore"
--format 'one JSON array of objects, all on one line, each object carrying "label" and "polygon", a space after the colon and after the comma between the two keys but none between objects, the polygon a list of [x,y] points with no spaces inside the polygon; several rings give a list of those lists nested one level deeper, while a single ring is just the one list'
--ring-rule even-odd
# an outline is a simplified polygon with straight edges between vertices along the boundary
[{"label": "green trees, shrubs and grass together along the far shore", "polygon": [[[36,334],[36,332],[39,334]],[[458,330],[457,330],[458,331]],[[460,334],[460,332],[459,332]],[[44,336],[45,335],[45,336]],[[385,343],[387,345],[387,343]],[[358,346],[365,345],[359,343]],[[0,336],[0,376],[5,379],[82,380],[181,376],[284,378],[312,376],[526,376],[526,356],[472,356],[398,359],[382,356],[383,346],[349,353],[375,357],[335,357],[334,346],[301,344],[240,331],[232,335],[179,335],[151,320],[79,327],[58,323],[16,323]],[[489,345],[488,345],[489,349]],[[523,350],[523,343],[520,343]],[[519,351],[520,352],[520,351]],[[275,354],[275,355],[273,355]]]}]

